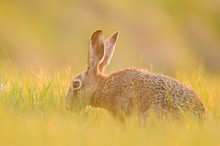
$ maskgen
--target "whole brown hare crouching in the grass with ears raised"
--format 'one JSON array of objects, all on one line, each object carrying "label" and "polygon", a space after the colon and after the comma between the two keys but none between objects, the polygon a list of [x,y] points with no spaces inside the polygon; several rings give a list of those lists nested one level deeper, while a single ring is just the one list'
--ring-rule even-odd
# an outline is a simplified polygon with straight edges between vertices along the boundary
[{"label": "whole brown hare crouching in the grass with ears raised", "polygon": [[117,37],[118,32],[104,40],[102,30],[92,34],[88,67],[72,81],[66,97],[67,109],[90,105],[122,118],[134,113],[146,118],[150,112],[158,119],[181,119],[183,113],[196,119],[206,117],[202,99],[175,79],[136,68],[106,75],[105,67],[110,63]]}]

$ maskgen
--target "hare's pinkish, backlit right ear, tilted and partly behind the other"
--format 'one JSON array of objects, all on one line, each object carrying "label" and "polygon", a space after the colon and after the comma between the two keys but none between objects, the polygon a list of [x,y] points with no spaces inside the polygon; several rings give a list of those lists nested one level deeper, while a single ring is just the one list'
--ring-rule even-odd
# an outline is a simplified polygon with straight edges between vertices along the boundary
[{"label": "hare's pinkish, backlit right ear, tilted and partly behind the other", "polygon": [[118,38],[118,32],[114,33],[112,36],[110,36],[105,41],[105,55],[103,57],[102,62],[100,62],[99,65],[99,72],[103,73],[105,70],[105,67],[110,63],[110,60],[112,58],[112,55],[115,50],[115,44]]}]

